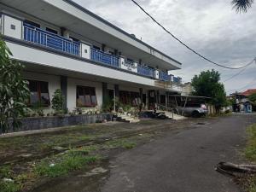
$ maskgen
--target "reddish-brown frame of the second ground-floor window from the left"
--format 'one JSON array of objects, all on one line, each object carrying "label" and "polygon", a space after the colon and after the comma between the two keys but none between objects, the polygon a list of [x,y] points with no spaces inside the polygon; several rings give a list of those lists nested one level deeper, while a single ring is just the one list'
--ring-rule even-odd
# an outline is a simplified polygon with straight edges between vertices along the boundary
[{"label": "reddish-brown frame of the second ground-floor window from the left", "polygon": [[[97,96],[96,96],[96,87],[90,87],[90,86],[83,86],[83,85],[77,85],[77,91],[76,91],[76,106],[77,107],[96,107],[98,105],[98,101],[97,101]],[[83,92],[83,96],[84,96],[84,103],[83,104],[79,104],[78,99],[79,99],[79,92],[80,90],[82,90]],[[86,90],[87,89],[87,90]],[[86,92],[89,92],[90,95],[86,94]],[[85,96],[90,96],[90,104],[86,103],[86,97]],[[96,102],[92,102],[92,96],[95,96],[95,100]]]}]

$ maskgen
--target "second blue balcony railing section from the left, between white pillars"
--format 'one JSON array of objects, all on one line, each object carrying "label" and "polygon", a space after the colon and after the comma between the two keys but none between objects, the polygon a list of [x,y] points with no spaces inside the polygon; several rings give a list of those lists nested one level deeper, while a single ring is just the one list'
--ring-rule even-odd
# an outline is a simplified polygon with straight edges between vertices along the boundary
[{"label": "second blue balcony railing section from the left, between white pillars", "polygon": [[101,50],[90,49],[90,59],[93,61],[101,62],[112,67],[119,67],[119,58],[113,55],[106,54]]}]

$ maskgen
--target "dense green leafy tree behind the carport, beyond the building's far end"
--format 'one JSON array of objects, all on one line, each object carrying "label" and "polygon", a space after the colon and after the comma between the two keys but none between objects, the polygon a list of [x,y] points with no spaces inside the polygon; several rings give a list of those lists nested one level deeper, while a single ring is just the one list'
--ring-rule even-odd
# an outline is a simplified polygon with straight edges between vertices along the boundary
[{"label": "dense green leafy tree behind the carport, beyond the building's far end", "polygon": [[193,95],[211,97],[210,102],[217,110],[227,104],[224,84],[219,82],[220,74],[217,71],[201,72],[192,79]]}]

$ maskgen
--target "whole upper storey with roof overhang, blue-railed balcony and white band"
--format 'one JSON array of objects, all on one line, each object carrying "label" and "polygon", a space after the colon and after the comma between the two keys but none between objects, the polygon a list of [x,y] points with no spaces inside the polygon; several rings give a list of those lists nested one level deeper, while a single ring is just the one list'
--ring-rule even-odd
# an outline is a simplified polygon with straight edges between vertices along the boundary
[{"label": "whole upper storey with roof overhang, blue-railed balcony and white band", "polygon": [[1,33],[17,60],[138,84],[181,84],[168,74],[180,62],[70,0],[2,0],[0,11]]}]

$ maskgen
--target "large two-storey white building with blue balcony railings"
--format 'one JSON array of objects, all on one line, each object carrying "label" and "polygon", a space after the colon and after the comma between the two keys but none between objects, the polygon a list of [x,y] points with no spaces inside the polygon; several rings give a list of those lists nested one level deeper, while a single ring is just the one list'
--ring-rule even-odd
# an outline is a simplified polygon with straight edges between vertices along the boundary
[{"label": "large two-storey white building with blue balcony railings", "polygon": [[181,93],[168,75],[181,63],[70,0],[2,0],[0,26],[13,59],[25,64],[30,105],[50,107],[56,89],[74,108],[120,102],[147,108]]}]

